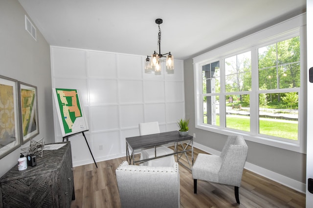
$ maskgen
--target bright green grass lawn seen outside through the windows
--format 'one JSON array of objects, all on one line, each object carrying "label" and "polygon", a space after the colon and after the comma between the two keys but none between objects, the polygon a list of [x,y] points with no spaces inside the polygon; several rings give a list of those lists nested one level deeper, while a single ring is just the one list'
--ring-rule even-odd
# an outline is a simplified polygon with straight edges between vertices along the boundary
[{"label": "bright green grass lawn seen outside through the windows", "polygon": [[[250,119],[248,116],[227,116],[226,127],[231,129],[242,130],[250,132]],[[204,123],[206,123],[206,116],[203,117]],[[217,126],[220,126],[220,116],[216,116]],[[298,124],[284,122],[284,120],[278,119],[266,119],[260,120],[260,133],[277,136],[281,138],[287,138],[292,140],[298,140]]]}]

